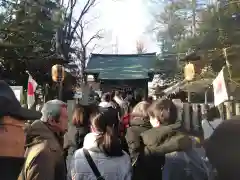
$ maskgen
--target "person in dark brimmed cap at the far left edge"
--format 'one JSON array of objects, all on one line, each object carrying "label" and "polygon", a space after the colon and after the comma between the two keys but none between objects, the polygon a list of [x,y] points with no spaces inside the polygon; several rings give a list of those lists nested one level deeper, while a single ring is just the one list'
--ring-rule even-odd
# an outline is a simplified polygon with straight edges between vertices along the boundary
[{"label": "person in dark brimmed cap at the far left edge", "polygon": [[21,107],[11,87],[0,80],[0,179],[17,179],[25,162],[25,122],[41,116]]}]

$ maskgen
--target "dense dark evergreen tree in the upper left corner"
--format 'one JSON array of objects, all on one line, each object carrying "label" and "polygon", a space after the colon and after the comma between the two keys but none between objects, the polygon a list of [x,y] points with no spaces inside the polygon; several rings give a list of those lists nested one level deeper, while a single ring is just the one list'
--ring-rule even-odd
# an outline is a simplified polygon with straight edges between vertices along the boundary
[{"label": "dense dark evergreen tree in the upper left corner", "polygon": [[54,36],[58,24],[52,21],[56,3],[48,0],[11,3],[8,6],[11,14],[0,25],[1,77],[23,85],[28,70],[40,84],[44,84],[49,81],[49,68],[56,60]]}]

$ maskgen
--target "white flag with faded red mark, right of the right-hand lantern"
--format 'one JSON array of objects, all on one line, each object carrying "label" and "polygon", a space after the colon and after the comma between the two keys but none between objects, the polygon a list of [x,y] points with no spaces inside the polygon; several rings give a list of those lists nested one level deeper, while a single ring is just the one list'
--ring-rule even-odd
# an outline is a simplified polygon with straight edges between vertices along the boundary
[{"label": "white flag with faded red mark, right of the right-hand lantern", "polygon": [[221,70],[213,81],[214,105],[217,106],[228,100],[227,86],[224,79],[223,70]]}]

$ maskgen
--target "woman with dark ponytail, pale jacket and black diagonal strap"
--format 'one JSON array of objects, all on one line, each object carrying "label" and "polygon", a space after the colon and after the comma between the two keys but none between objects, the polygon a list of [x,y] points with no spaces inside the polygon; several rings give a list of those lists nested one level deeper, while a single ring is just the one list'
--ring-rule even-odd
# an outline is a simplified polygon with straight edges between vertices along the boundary
[{"label": "woman with dark ponytail, pale jacket and black diagonal strap", "polygon": [[118,119],[109,111],[98,112],[91,120],[83,148],[77,150],[71,163],[74,180],[130,180],[130,157],[121,148]]}]

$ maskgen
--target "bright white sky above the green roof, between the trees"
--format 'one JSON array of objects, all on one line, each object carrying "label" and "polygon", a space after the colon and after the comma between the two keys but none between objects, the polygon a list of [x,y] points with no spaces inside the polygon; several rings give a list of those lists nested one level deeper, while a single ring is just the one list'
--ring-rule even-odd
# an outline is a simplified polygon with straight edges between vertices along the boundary
[{"label": "bright white sky above the green roof, between the trees", "polygon": [[148,52],[159,51],[152,34],[146,32],[152,21],[147,2],[148,0],[99,0],[86,18],[99,17],[89,26],[87,35],[91,36],[98,29],[104,29],[105,38],[98,42],[101,49],[104,47],[101,53],[114,53],[116,42],[118,53],[135,53],[136,41],[142,41]]}]

